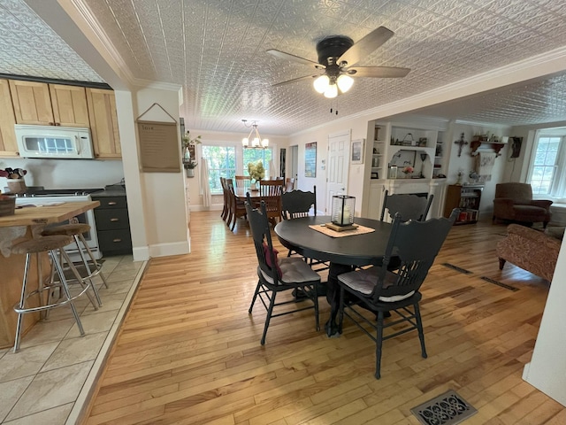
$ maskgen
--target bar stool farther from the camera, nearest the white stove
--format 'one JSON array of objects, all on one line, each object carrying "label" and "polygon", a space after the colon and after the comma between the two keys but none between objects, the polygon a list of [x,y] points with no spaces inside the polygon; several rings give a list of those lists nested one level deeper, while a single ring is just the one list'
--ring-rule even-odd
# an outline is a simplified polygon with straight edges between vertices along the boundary
[{"label": "bar stool farther from the camera, nearest the white stove", "polygon": [[[90,231],[90,226],[85,223],[76,223],[76,224],[64,224],[61,226],[54,226],[52,228],[44,228],[42,231],[42,236],[53,236],[53,235],[65,235],[65,236],[73,236],[74,243],[77,245],[77,249],[79,250],[80,259],[82,260],[82,264],[84,265],[85,269],[87,270],[87,275],[84,276],[84,279],[89,280],[92,284],[92,288],[95,291],[96,300],[98,301],[98,305],[102,306],[102,301],[98,295],[98,290],[96,289],[96,285],[92,282],[93,277],[99,275],[100,278],[103,280],[104,286],[108,289],[108,282],[106,282],[106,278],[102,272],[103,265],[96,261],[94,254],[88,248],[88,243],[85,241],[85,237],[83,236],[84,233]],[[82,246],[81,246],[82,245]],[[88,255],[85,255],[85,251]]]}]

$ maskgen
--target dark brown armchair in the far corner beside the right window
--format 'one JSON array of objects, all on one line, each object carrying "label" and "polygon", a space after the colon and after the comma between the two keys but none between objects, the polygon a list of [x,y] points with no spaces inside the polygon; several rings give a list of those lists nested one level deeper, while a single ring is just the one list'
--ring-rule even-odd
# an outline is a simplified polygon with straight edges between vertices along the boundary
[{"label": "dark brown armchair in the far corner beside the right window", "polygon": [[495,185],[493,222],[509,220],[532,225],[542,221],[547,227],[552,213],[552,201],[532,199],[532,188],[527,183],[500,183]]}]

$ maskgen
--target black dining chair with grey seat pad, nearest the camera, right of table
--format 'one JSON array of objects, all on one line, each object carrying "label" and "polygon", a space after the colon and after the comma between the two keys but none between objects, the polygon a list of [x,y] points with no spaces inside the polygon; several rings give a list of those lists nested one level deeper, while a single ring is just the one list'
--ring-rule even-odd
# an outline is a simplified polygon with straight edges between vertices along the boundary
[{"label": "black dining chair with grey seat pad, nearest the camera, right of table", "polygon": [[[455,209],[448,219],[407,222],[402,222],[401,214],[395,214],[381,266],[338,276],[339,331],[341,333],[346,315],[376,343],[375,377],[377,379],[381,377],[381,348],[386,339],[417,329],[421,355],[424,359],[427,357],[423,322],[418,306],[422,298],[419,289],[458,213],[459,210]],[[400,265],[390,270],[388,266],[394,254],[400,260]],[[369,310],[372,314],[361,308]],[[384,322],[386,312],[396,313],[387,323]],[[366,329],[368,327],[375,330],[376,336],[371,335]],[[384,336],[384,329],[387,328],[393,329]]]}]

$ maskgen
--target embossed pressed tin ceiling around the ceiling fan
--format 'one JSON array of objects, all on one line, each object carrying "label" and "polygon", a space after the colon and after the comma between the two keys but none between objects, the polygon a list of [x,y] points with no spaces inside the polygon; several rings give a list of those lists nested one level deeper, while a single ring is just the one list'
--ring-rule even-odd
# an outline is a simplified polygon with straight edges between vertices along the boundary
[{"label": "embossed pressed tin ceiling around the ceiling fan", "polygon": [[[27,3],[45,0],[27,0]],[[52,1],[52,0],[51,0]],[[183,86],[187,128],[289,135],[340,117],[566,46],[562,0],[74,0],[86,6],[133,80]],[[395,35],[358,65],[411,68],[402,79],[356,79],[348,94],[318,95],[312,73],[275,58],[317,60],[329,35],[354,42],[385,26]],[[0,73],[102,81],[22,0],[0,0]],[[57,29],[57,28],[55,28]],[[566,69],[566,64],[564,66]],[[502,125],[564,120],[562,73],[426,108],[446,119]]]}]

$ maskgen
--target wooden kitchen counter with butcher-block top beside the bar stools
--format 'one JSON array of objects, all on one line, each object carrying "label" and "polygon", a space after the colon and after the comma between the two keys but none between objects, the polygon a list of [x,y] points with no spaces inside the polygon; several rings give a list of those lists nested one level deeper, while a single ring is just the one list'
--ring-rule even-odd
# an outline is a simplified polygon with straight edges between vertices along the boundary
[{"label": "wooden kitchen counter with butcher-block top beside the bar stools", "polygon": [[[36,207],[25,207],[16,209],[15,214],[0,217],[0,243],[3,245],[18,243],[33,237],[34,233],[41,231],[43,226],[60,223],[69,220],[76,215],[100,205],[98,201],[65,202],[61,205],[44,205]],[[9,236],[3,232],[4,228],[26,227],[25,235],[16,239],[8,240]],[[34,231],[35,230],[35,231]],[[47,254],[42,254],[42,271],[45,278],[49,277],[50,266]],[[26,256],[22,254],[11,254],[4,256],[0,253],[0,348],[10,347],[14,344],[16,334],[16,322],[18,315],[13,310],[13,305],[19,302],[21,285],[24,276]],[[37,288],[37,266],[32,259],[30,269],[30,290]],[[33,302],[37,298],[30,298]],[[65,307],[62,307],[65,308]],[[24,315],[24,333],[39,320],[39,313],[28,313]]]}]

